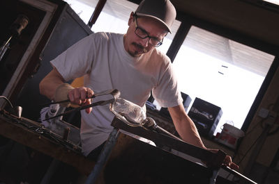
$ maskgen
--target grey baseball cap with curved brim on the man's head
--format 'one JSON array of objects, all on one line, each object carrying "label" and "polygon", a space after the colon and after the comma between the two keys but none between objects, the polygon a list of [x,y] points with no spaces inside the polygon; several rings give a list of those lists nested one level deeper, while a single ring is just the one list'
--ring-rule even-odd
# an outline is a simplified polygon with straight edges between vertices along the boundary
[{"label": "grey baseball cap with curved brim on the man's head", "polygon": [[135,10],[135,13],[139,16],[157,19],[172,33],[170,28],[176,17],[176,10],[169,0],[143,0]]}]

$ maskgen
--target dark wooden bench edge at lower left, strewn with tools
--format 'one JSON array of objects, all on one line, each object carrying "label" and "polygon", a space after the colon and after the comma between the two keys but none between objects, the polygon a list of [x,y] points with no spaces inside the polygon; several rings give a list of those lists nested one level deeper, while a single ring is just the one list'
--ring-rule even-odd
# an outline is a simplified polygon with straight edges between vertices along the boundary
[{"label": "dark wooden bench edge at lower left, strewn with tools", "polygon": [[88,175],[91,172],[95,162],[86,159],[79,149],[67,145],[63,146],[59,142],[51,140],[49,137],[39,133],[39,131],[33,131],[31,128],[17,123],[17,121],[20,122],[22,120],[29,121],[35,127],[40,126],[37,122],[24,119],[24,117],[19,119],[13,115],[0,113],[0,135],[45,153],[47,156],[61,160],[68,165],[73,165],[73,167],[76,167],[83,174]]}]

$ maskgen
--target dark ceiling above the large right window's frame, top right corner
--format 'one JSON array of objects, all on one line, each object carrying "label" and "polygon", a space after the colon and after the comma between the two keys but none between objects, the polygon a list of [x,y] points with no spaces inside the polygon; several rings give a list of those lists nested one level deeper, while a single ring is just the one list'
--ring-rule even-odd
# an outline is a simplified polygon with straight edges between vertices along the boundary
[{"label": "dark ceiling above the large right window's frame, top right corner", "polygon": [[172,0],[179,12],[279,46],[279,6],[259,0]]}]

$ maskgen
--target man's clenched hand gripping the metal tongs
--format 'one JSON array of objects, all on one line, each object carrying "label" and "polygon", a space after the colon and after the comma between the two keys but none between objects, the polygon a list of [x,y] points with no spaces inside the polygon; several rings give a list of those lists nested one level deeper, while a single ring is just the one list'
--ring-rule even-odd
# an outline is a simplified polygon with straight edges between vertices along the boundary
[{"label": "man's clenched hand gripping the metal tongs", "polygon": [[[74,103],[80,106],[87,106],[91,104],[91,97],[94,92],[89,87],[77,87],[68,92],[68,98],[70,99],[70,103]],[[86,113],[90,113],[92,108],[86,108]]]}]

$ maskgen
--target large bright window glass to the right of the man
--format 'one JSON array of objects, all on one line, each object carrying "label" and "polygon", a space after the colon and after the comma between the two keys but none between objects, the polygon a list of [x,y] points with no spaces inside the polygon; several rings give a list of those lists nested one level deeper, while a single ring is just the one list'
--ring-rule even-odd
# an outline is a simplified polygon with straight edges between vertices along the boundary
[{"label": "large bright window glass to the right of the man", "polygon": [[191,103],[197,97],[222,108],[216,134],[225,123],[241,128],[274,58],[192,26],[173,67]]}]

